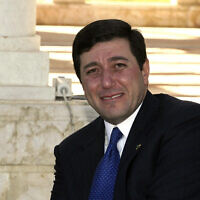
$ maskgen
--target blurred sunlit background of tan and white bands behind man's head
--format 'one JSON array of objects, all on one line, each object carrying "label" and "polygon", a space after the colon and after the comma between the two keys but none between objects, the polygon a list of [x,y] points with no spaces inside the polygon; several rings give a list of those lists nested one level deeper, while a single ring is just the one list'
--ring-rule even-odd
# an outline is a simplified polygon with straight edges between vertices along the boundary
[{"label": "blurred sunlit background of tan and white bands behind man's head", "polygon": [[91,21],[119,18],[138,28],[147,43],[150,90],[199,101],[200,1],[195,0],[37,0],[41,50],[50,53],[50,83],[73,80],[83,94],[71,62],[74,35]]}]

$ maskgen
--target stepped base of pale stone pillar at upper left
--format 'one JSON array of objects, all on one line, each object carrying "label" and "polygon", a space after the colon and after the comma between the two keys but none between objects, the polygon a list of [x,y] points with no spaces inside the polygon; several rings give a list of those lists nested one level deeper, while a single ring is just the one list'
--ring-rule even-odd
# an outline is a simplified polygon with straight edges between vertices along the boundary
[{"label": "stepped base of pale stone pillar at upper left", "polygon": [[35,24],[36,0],[0,0],[0,100],[54,99]]}]

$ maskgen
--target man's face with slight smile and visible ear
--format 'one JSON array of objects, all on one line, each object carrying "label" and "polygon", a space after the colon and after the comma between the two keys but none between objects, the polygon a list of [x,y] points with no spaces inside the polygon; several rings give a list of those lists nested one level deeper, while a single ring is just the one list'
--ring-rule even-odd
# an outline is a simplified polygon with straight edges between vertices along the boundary
[{"label": "man's face with slight smile and visible ear", "polygon": [[80,56],[81,81],[89,104],[112,124],[128,118],[143,101],[148,60],[141,71],[126,39],[95,44]]}]

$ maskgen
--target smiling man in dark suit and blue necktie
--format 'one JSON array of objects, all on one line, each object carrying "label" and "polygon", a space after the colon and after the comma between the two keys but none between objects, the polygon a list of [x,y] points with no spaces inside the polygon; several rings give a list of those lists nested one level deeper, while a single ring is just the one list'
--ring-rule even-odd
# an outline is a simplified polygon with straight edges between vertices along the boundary
[{"label": "smiling man in dark suit and blue necktie", "polygon": [[141,33],[93,22],[77,34],[73,61],[100,117],[56,146],[51,199],[199,200],[200,105],[148,91]]}]

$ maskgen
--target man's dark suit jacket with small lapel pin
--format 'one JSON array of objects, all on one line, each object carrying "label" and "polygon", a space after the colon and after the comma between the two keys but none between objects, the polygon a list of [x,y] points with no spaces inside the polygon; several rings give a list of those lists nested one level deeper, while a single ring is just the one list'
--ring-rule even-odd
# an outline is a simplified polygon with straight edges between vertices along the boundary
[{"label": "man's dark suit jacket with small lapel pin", "polygon": [[[104,153],[101,117],[55,148],[52,200],[87,200]],[[200,105],[147,93],[121,157],[115,200],[200,200]]]}]

